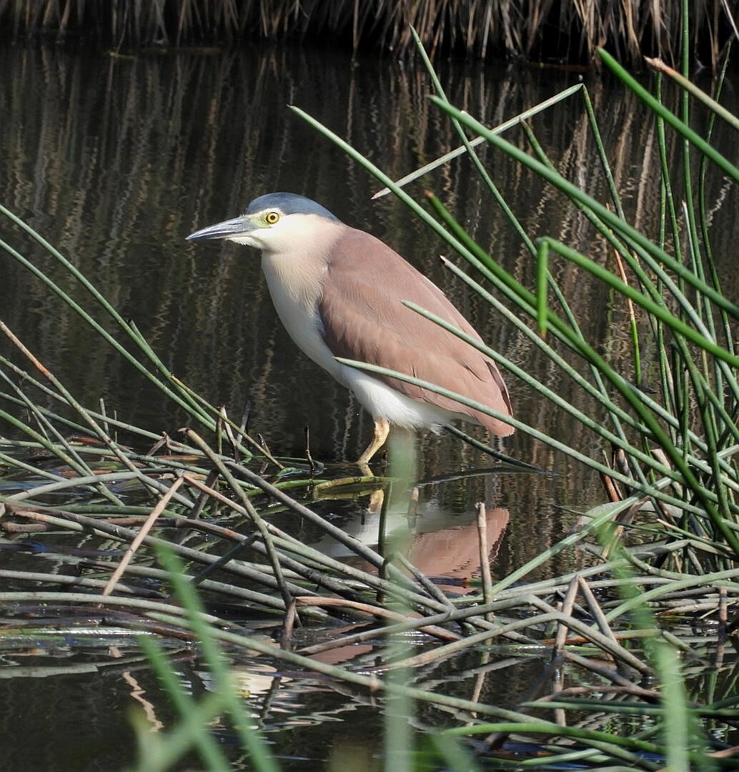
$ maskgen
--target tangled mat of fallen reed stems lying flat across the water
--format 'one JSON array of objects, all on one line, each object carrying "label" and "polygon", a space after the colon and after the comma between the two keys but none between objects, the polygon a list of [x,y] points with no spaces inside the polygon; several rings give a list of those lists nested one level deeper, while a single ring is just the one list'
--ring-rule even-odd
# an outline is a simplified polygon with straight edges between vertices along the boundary
[{"label": "tangled mat of fallen reed stems lying flat across the water", "polygon": [[[594,538],[619,511],[635,506],[636,497],[590,513],[583,527],[537,560],[502,581],[455,598],[439,591],[432,578],[409,571],[402,560],[388,561],[338,530],[281,489],[279,482],[266,479],[264,469],[255,472],[232,455],[209,449],[192,430],[186,441],[162,445],[153,455],[132,454],[120,446],[114,446],[114,453],[109,447],[72,443],[98,472],[108,465],[120,467],[120,456],[126,456],[137,467],[135,477],[128,469],[117,469],[34,483],[26,473],[23,482],[16,483],[22,492],[8,493],[18,475],[5,475],[0,496],[5,533],[15,537],[32,533],[37,543],[49,531],[46,557],[75,568],[56,574],[0,570],[5,582],[28,586],[0,593],[12,626],[3,635],[5,652],[13,650],[14,641],[23,648],[43,635],[52,645],[54,635],[74,639],[78,627],[86,629],[96,621],[103,642],[122,631],[137,631],[144,636],[141,645],[161,678],[180,695],[183,720],[205,727],[219,713],[228,712],[234,725],[242,726],[239,736],[253,758],[266,750],[249,734],[251,730],[243,728],[249,721],[219,654],[222,649],[250,652],[252,657],[279,662],[282,668],[337,679],[360,695],[381,685],[388,696],[451,712],[466,727],[437,740],[443,746],[456,735],[482,734],[476,751],[480,760],[507,757],[517,744],[514,740],[524,734],[548,738],[535,742],[528,753],[545,753],[551,764],[619,760],[636,769],[656,768],[656,760],[669,756],[654,728],[630,738],[608,730],[613,721],[633,715],[654,719],[661,715],[664,695],[656,686],[660,666],[646,652],[663,645],[686,662],[710,660],[720,669],[731,668],[727,609],[739,601],[739,568],[710,575],[678,574],[655,566],[679,550],[679,544],[628,548],[611,544],[606,557]],[[4,453],[6,466],[20,450],[43,450],[30,443],[4,445],[11,450]],[[44,466],[53,473],[53,465]],[[22,464],[19,468],[27,472]],[[365,488],[379,483],[344,481]],[[153,489],[156,484],[162,489]],[[157,503],[110,503],[120,496]],[[263,496],[297,518],[310,520],[371,568],[360,570],[333,560],[274,526],[274,506],[257,504]],[[46,503],[61,497],[67,499],[63,506]],[[66,540],[59,541],[64,533],[84,537],[84,557],[64,548]],[[595,551],[598,563],[584,571],[531,580],[557,554],[578,548]],[[659,624],[650,609],[690,624]],[[718,638],[710,633],[715,625],[723,631]],[[299,626],[315,629],[308,642],[303,636],[298,638],[302,642],[294,640]],[[341,635],[335,632],[339,627]],[[273,635],[264,635],[270,630]],[[422,635],[427,644],[409,645],[408,635]],[[194,643],[219,685],[202,701],[171,683],[168,658],[177,656],[178,647]],[[351,667],[320,660],[320,655],[333,650],[367,643],[373,647],[371,653],[354,658]],[[386,653],[378,657],[378,652]],[[542,677],[537,688],[514,706],[450,696],[440,688],[439,679],[449,662],[463,662],[470,652],[486,652],[490,668],[506,662],[509,666],[539,662]],[[578,672],[578,686],[562,682],[563,671]],[[646,682],[653,685],[645,686]],[[691,715],[714,726],[734,726],[735,696],[719,689],[710,701],[696,693],[691,699]],[[572,720],[556,717],[568,713]],[[588,716],[585,720],[580,718],[583,713]],[[686,757],[698,764],[705,760],[705,739],[698,730],[691,730],[690,736],[696,749]],[[193,743],[208,769],[227,767],[222,749],[213,747],[202,730],[187,736],[175,731],[164,758],[177,758]],[[259,747],[253,747],[255,743]],[[723,749],[714,743],[714,752]],[[139,768],[168,768],[160,766],[162,752],[147,739]],[[266,766],[259,768],[276,768],[269,767],[274,762],[268,756],[262,763]],[[728,767],[733,763],[727,760]],[[717,763],[717,768],[722,766]]]}]

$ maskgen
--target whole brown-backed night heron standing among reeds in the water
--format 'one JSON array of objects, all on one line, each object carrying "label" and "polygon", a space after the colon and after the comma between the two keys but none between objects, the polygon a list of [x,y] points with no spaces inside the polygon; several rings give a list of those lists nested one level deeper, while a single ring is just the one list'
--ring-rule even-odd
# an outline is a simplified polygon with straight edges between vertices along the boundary
[{"label": "whole brown-backed night heron standing among reeds in the water", "polygon": [[262,250],[269,294],[290,337],[351,389],[375,422],[375,435],[358,459],[361,466],[385,444],[391,426],[438,431],[462,419],[493,435],[514,431],[452,398],[337,361],[380,365],[511,415],[495,362],[403,301],[475,340],[480,336],[435,284],[375,236],[344,225],[310,198],[269,193],[255,198],[240,217],[188,239],[228,239]]}]

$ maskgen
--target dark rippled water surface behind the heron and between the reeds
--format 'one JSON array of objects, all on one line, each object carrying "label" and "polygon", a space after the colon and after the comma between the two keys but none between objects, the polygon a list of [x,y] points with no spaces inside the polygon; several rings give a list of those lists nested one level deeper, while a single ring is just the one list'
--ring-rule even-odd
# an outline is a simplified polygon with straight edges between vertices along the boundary
[{"label": "dark rippled water surface behind the heron and between the reeds", "polygon": [[[578,77],[502,66],[441,63],[439,69],[449,97],[490,125],[551,97]],[[9,46],[0,49],[0,72],[2,203],[72,259],[124,317],[135,320],[179,378],[212,404],[227,405],[232,415],[241,415],[249,404],[253,431],[264,435],[276,455],[303,455],[307,425],[317,459],[356,458],[371,422],[286,336],[256,252],[184,240],[193,230],[233,217],[252,198],[275,190],[315,198],[345,222],[393,245],[442,286],[488,343],[547,378],[565,398],[592,408],[581,395],[571,394],[570,384],[558,374],[547,375],[547,363],[531,344],[442,269],[437,256],[443,248],[434,235],[392,197],[371,202],[378,183],[286,107],[303,108],[399,178],[459,144],[448,121],[429,105],[431,87],[420,66],[270,47],[113,57]],[[732,84],[727,87],[735,98]],[[656,233],[653,124],[620,86],[592,76],[588,88],[629,216]],[[581,97],[531,124],[558,168],[605,200]],[[520,131],[509,136],[523,146]],[[670,153],[677,149],[671,146]],[[724,149],[735,161],[735,137],[727,137]],[[604,252],[585,221],[541,181],[490,151],[483,151],[483,157],[530,235],[554,235],[579,249]],[[417,193],[423,188],[435,191],[495,259],[531,286],[531,258],[469,161],[453,161],[413,186]],[[714,250],[726,259],[734,259],[739,237],[737,201],[731,196],[734,192],[727,195],[717,176],[709,204]],[[57,271],[5,220],[0,233],[51,273]],[[628,363],[625,309],[613,305],[605,290],[583,280],[571,266],[556,265],[554,271],[596,344],[617,364]],[[109,411],[154,432],[175,432],[181,426],[184,418],[176,408],[4,252],[0,318],[86,405],[97,405],[102,397]],[[5,339],[0,352],[19,361]],[[646,358],[648,362],[649,352]],[[514,378],[507,380],[521,420],[581,452],[602,452],[570,419]],[[8,431],[0,426],[0,433]],[[427,519],[438,516],[446,524],[469,520],[473,504],[487,501],[497,513],[496,527],[507,529],[494,567],[499,575],[567,533],[576,510],[602,500],[592,474],[544,445],[518,434],[505,449],[558,476],[463,478],[425,486],[422,493]],[[484,463],[446,436],[419,438],[419,458],[423,479]],[[371,530],[371,523],[354,518],[346,527]],[[424,550],[419,547],[419,552]],[[568,567],[559,564],[556,569]],[[152,723],[168,725],[170,709],[140,665],[129,671],[125,665],[106,663],[100,673],[85,672],[83,665],[90,659],[74,645],[69,662],[61,661],[74,666],[56,677],[41,668],[3,682],[3,768],[119,769],[133,759],[128,715],[134,707],[147,707]],[[24,663],[16,658],[8,664]],[[45,664],[56,666],[53,659]],[[80,672],[75,672],[76,665]],[[262,664],[237,666],[257,723],[270,730],[281,756],[294,759],[294,766],[286,762],[287,769],[323,769],[334,740],[337,748],[366,747],[376,716],[361,698],[347,699],[289,676],[276,680]],[[455,674],[445,677],[451,681]],[[536,677],[536,667],[527,670],[522,663],[490,675],[485,689],[489,699],[500,703],[505,695],[508,704]],[[195,692],[207,685],[207,676],[192,662],[182,664],[181,679]],[[453,690],[469,696],[471,688],[461,680]],[[439,716],[423,719],[434,723]],[[11,742],[22,733],[32,733],[42,743]],[[241,768],[236,759],[235,768]]]}]

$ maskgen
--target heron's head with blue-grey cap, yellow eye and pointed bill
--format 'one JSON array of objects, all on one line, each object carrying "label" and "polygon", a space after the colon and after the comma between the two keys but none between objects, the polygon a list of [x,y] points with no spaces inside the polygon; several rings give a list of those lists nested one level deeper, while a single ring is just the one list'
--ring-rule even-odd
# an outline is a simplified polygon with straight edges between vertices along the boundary
[{"label": "heron's head with blue-grey cap, yellow eye and pointed bill", "polygon": [[263,252],[297,252],[327,229],[341,225],[341,220],[310,198],[267,193],[255,198],[239,217],[208,225],[187,239],[228,239]]}]

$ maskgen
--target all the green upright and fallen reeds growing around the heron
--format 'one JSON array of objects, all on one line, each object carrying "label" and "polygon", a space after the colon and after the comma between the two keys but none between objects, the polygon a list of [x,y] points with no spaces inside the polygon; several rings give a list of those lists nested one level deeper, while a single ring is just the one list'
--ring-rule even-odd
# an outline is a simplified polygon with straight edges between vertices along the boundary
[{"label": "all the green upright and fallen reeds growing around the heron", "polygon": [[[685,23],[687,3],[682,8]],[[659,238],[651,240],[623,214],[585,86],[561,99],[582,100],[607,181],[608,205],[558,174],[524,120],[526,151],[503,139],[502,130],[449,103],[420,39],[415,42],[429,65],[436,107],[459,128],[484,185],[527,245],[535,266],[533,289],[493,262],[439,198],[429,194],[423,203],[415,201],[341,137],[297,113],[439,232],[472,266],[467,270],[447,261],[449,269],[605,409],[607,420],[595,421],[547,382],[488,352],[608,449],[605,459],[594,457],[517,422],[520,432],[599,472],[604,503],[582,513],[568,537],[507,577],[496,581],[483,572],[473,591],[444,592],[434,577],[392,550],[384,554],[355,540],[314,506],[318,493],[338,495],[343,489],[368,496],[394,481],[331,479],[309,460],[276,458],[241,421],[174,378],[136,327],[75,266],[2,208],[4,218],[63,267],[69,282],[86,289],[90,306],[103,311],[118,335],[100,325],[89,306],[76,303],[63,289],[66,284],[53,281],[7,242],[0,247],[190,422],[185,432],[159,435],[120,422],[103,407],[86,408],[12,330],[0,327],[24,363],[0,359],[0,417],[22,436],[0,442],[0,527],[15,538],[34,533],[57,563],[75,569],[66,574],[0,570],[0,578],[14,585],[0,593],[6,626],[12,625],[4,638],[11,641],[15,635],[23,648],[45,627],[59,631],[59,618],[69,620],[63,634],[91,618],[111,631],[147,634],[141,645],[181,716],[181,725],[165,740],[144,738],[142,730],[140,768],[149,772],[168,768],[193,747],[208,769],[228,768],[222,747],[206,729],[221,713],[229,714],[254,768],[278,768],[250,728],[224,650],[253,652],[293,671],[320,673],[351,686],[358,697],[375,699],[381,692],[402,699],[407,713],[414,706],[443,712],[453,728],[430,733],[433,750],[455,770],[474,769],[478,762],[503,765],[521,740],[527,742],[522,753],[529,765],[544,758],[558,768],[736,768],[737,743],[729,740],[739,729],[734,689],[739,607],[734,328],[739,308],[721,292],[705,199],[714,167],[732,185],[739,183],[739,170],[710,142],[716,120],[735,120],[718,109],[721,81],[714,94],[701,97],[709,117],[698,133],[691,128],[690,100],[680,100],[678,113],[661,100],[661,75],[653,90],[646,90],[601,54],[656,120],[662,206]],[[683,56],[681,73],[659,69],[680,83],[689,62]],[[500,199],[463,129],[564,193],[608,245],[611,262],[576,252],[558,239],[531,239]],[[677,171],[666,162],[670,131],[684,140]],[[690,194],[684,204],[673,196],[676,174]],[[566,288],[551,269],[555,259],[605,283],[629,308],[628,376],[615,371],[581,334]],[[649,361],[642,358],[647,350],[656,352]],[[574,361],[585,363],[585,374]],[[119,433],[127,436],[126,444]],[[385,496],[381,513],[387,514],[390,498]],[[336,560],[280,527],[276,513],[283,512],[341,543],[352,560]],[[77,534],[84,537],[86,554],[66,549]],[[23,542],[11,546],[38,548]],[[554,558],[575,551],[588,557],[589,567],[564,575],[547,571]],[[483,547],[481,562],[486,557]],[[314,631],[310,642],[297,635],[302,629]],[[265,630],[272,634],[264,635]],[[412,636],[424,644],[411,645]],[[177,651],[178,645],[193,642],[216,687],[200,700],[183,692],[164,654],[164,646]],[[345,666],[317,659],[358,643],[371,643],[371,655]],[[512,705],[452,696],[443,688],[449,666],[463,670],[468,666],[463,658],[470,655],[478,658],[483,678],[489,669],[522,658],[536,662],[542,676]],[[691,670],[715,670],[717,677],[689,680]],[[634,716],[641,722],[636,731],[629,729]],[[392,757],[404,740],[397,727],[389,734],[397,743],[388,749]]]}]

